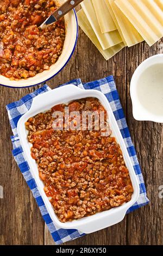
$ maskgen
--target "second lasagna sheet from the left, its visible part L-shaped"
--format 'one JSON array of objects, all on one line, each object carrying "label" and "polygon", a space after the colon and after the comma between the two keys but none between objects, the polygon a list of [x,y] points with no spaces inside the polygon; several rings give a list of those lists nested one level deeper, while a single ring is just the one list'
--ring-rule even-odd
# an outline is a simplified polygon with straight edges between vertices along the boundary
[{"label": "second lasagna sheet from the left, its visible part L-shaped", "polygon": [[103,50],[122,42],[122,38],[117,29],[115,31],[106,32],[104,34],[101,33],[101,28],[99,27],[98,19],[95,13],[95,9],[93,7],[92,0],[85,0],[81,3],[81,5]]}]

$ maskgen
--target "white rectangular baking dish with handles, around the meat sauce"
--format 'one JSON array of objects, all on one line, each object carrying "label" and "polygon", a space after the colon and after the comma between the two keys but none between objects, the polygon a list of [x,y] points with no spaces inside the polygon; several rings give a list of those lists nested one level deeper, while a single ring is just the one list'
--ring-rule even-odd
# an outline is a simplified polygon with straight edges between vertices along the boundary
[{"label": "white rectangular baking dish with handles, around the meat sauce", "polygon": [[[123,153],[124,161],[129,170],[129,175],[131,178],[131,182],[133,184],[134,193],[131,197],[131,200],[128,203],[124,203],[117,208],[113,208],[107,211],[99,212],[95,215],[89,217],[83,217],[79,220],[74,220],[72,222],[62,223],[59,221],[57,215],[54,212],[53,206],[48,200],[45,192],[43,191],[43,182],[39,178],[39,171],[37,169],[37,165],[32,156],[30,155],[30,144],[27,141],[28,131],[24,123],[28,120],[28,118],[33,117],[34,115],[45,112],[51,107],[58,105],[59,103],[67,103],[72,100],[82,99],[84,97],[96,97],[104,106],[109,116],[109,125],[112,131],[112,136],[116,137],[117,142],[121,146],[121,150]],[[17,124],[18,136],[20,138],[20,142],[24,151],[24,156],[28,161],[31,173],[33,178],[35,179],[36,185],[39,189],[43,202],[46,205],[47,211],[52,218],[52,221],[58,228],[64,229],[78,229],[79,231],[89,234],[94,231],[110,227],[120,221],[123,220],[126,211],[132,206],[136,200],[139,198],[140,190],[139,190],[139,182],[136,178],[136,174],[133,168],[133,164],[131,163],[126,145],[124,144],[120,129],[118,128],[116,119],[114,114],[112,113],[110,104],[106,99],[105,95],[97,90],[83,90],[74,86],[72,84],[60,87],[57,89],[50,90],[49,92],[40,94],[33,99],[33,103],[29,111],[24,114]]]}]

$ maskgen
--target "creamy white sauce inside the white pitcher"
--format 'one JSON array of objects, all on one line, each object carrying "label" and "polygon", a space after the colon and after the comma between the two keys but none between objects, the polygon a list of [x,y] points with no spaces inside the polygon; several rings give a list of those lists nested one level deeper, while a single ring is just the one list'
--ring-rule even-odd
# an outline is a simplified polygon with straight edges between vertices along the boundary
[{"label": "creamy white sauce inside the white pitcher", "polygon": [[163,114],[163,63],[145,69],[136,84],[137,97],[148,112]]}]

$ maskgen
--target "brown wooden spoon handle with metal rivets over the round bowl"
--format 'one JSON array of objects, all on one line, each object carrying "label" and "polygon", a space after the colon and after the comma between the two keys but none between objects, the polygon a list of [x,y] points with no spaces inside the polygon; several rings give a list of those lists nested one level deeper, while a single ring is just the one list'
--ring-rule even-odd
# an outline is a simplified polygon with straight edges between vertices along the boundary
[{"label": "brown wooden spoon handle with metal rivets over the round bowl", "polygon": [[54,11],[53,16],[55,17],[55,20],[58,21],[62,16],[67,14],[82,1],[83,0],[67,0],[56,11]]}]

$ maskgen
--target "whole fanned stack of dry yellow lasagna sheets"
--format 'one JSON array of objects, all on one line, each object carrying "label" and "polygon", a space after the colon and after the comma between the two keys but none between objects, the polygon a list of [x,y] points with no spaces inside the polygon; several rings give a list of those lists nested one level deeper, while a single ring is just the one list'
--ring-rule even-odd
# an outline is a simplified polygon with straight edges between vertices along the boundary
[{"label": "whole fanned stack of dry yellow lasagna sheets", "polygon": [[106,60],[125,46],[163,36],[163,0],[84,0],[79,26]]}]

